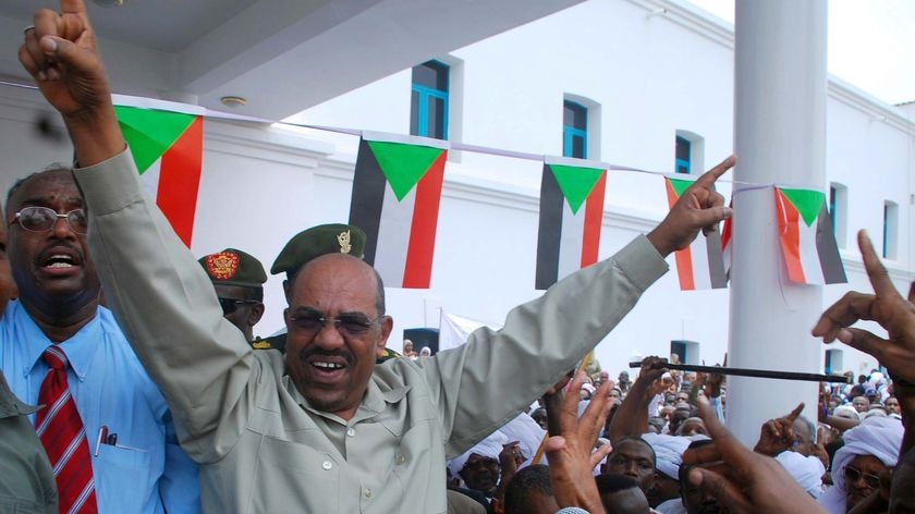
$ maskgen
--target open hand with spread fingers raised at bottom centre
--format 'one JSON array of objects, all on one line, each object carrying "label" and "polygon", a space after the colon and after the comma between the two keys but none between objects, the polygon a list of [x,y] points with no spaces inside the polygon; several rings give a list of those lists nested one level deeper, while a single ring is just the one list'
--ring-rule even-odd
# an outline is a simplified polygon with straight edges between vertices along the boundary
[{"label": "open hand with spread fingers raised at bottom centre", "polygon": [[553,495],[559,506],[577,506],[599,514],[603,512],[603,506],[591,470],[595,463],[606,457],[612,448],[605,444],[594,455],[591,450],[610,412],[610,388],[608,383],[601,384],[578,419],[577,392],[584,380],[584,374],[572,380],[559,412],[547,407],[547,416],[554,421],[551,425],[558,425],[560,431],[547,440],[546,453]]}]

